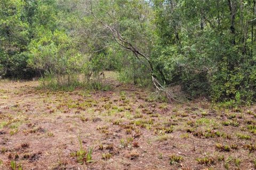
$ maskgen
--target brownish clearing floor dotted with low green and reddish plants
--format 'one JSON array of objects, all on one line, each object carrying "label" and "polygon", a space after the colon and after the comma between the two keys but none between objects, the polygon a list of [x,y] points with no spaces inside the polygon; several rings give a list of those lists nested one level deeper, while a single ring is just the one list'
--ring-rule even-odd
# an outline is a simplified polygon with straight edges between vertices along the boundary
[{"label": "brownish clearing floor dotted with low green and reddish plants", "polygon": [[107,91],[38,83],[0,81],[0,169],[256,167],[254,106],[168,104],[114,80]]}]

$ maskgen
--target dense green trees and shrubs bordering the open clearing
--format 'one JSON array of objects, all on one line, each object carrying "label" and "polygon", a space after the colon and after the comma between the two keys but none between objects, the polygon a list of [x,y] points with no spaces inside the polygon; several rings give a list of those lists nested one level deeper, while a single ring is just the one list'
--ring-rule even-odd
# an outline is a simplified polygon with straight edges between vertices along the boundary
[{"label": "dense green trees and shrubs bordering the open clearing", "polygon": [[[255,0],[0,1],[2,77],[103,70],[230,104],[256,97]],[[150,82],[150,83],[149,83]]]}]

